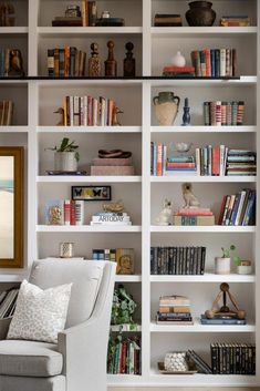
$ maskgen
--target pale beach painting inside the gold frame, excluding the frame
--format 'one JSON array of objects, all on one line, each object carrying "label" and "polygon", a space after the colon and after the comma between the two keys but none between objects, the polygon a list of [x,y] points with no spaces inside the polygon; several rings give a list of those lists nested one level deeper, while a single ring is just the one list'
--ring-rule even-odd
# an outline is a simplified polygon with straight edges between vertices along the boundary
[{"label": "pale beach painting inside the gold frame, excluding the frame", "polygon": [[0,258],[14,256],[14,157],[0,156]]}]

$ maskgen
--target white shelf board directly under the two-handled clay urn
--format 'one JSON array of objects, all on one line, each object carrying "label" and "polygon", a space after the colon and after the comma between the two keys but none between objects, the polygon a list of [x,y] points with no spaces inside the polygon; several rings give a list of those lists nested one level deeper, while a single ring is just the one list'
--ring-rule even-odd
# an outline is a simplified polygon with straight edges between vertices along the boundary
[{"label": "white shelf board directly under the two-handled clay urn", "polygon": [[152,133],[256,133],[257,126],[152,126]]}]

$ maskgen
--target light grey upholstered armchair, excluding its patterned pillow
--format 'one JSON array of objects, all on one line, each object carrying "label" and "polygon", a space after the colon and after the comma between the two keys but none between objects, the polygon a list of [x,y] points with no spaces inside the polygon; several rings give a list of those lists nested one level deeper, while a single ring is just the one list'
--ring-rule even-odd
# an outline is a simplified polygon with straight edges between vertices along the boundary
[{"label": "light grey upholstered armchair, excluding its patterned pillow", "polygon": [[0,320],[0,391],[105,391],[115,264],[38,260],[30,282],[42,289],[73,282],[58,344],[7,340]]}]

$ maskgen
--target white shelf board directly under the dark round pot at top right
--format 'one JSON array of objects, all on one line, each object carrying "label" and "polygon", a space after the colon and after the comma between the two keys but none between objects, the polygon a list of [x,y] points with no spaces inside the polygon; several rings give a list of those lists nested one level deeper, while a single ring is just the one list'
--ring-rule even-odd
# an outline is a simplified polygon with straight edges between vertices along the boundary
[{"label": "white shelf board directly under the dark round pot at top right", "polygon": [[247,34],[257,35],[257,27],[153,27],[150,29],[150,34],[153,38],[229,38],[231,37],[242,37]]}]

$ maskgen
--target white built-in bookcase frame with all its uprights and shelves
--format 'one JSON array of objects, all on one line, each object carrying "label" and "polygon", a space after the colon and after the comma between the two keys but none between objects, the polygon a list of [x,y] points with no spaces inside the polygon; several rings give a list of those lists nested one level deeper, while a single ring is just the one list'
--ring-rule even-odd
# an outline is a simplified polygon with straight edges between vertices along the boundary
[{"label": "white built-in bookcase frame with all its uprights and shelves", "polygon": [[[113,38],[123,37],[125,39],[131,39],[133,37],[137,37],[141,41],[142,50],[142,70],[144,76],[150,76],[153,74],[153,63],[152,63],[152,52],[153,52],[153,40],[164,40],[171,39],[180,40],[197,38],[198,40],[207,40],[207,39],[235,39],[239,40],[240,38],[249,38],[252,39],[252,42],[257,42],[254,48],[259,48],[259,25],[260,25],[260,0],[248,0],[247,3],[252,3],[254,9],[257,10],[257,25],[250,28],[154,28],[152,27],[152,10],[153,4],[156,2],[157,4],[162,3],[163,7],[168,7],[168,0],[143,0],[143,6],[138,6],[139,9],[143,7],[143,25],[139,27],[125,27],[125,28],[52,28],[46,25],[39,25],[38,21],[39,12],[40,12],[40,2],[43,1],[45,6],[53,7],[53,0],[24,0],[24,7],[28,7],[29,14],[29,25],[20,25],[15,28],[0,28],[0,40],[4,39],[4,37],[19,37],[27,35],[28,37],[28,73],[30,76],[38,76],[39,70],[39,45],[41,45],[42,40],[62,38],[70,39],[76,37],[76,39],[91,38],[94,39],[98,35],[98,38],[103,38],[106,40],[108,34],[112,34]],[[111,0],[112,1],[112,0]],[[114,1],[114,0],[113,0]],[[128,1],[129,0],[121,0]],[[174,0],[178,2],[179,0]],[[225,3],[233,3],[238,2],[241,4],[241,0],[215,0],[215,3],[225,4]],[[14,1],[15,2],[15,1]],[[67,4],[67,1],[63,1],[64,7]],[[80,3],[80,1],[77,1]],[[133,7],[139,4],[142,0],[133,1]],[[103,1],[105,4],[110,4],[110,0]],[[102,3],[102,4],[103,4]],[[188,1],[186,2],[188,4]],[[225,6],[226,7],[226,6]],[[251,6],[250,6],[251,7]],[[188,6],[187,6],[188,8]],[[133,11],[134,12],[134,11]],[[107,35],[107,38],[106,38]],[[254,40],[254,41],[253,41]],[[157,42],[157,41],[156,41]],[[164,43],[163,43],[164,44]],[[167,43],[168,45],[168,43]],[[1,47],[1,44],[0,44]],[[251,50],[253,51],[253,43]],[[254,53],[256,54],[256,53]],[[163,60],[162,60],[163,61]],[[239,61],[239,56],[238,56]],[[164,61],[163,61],[164,62]],[[162,64],[163,64],[162,62]],[[142,301],[142,375],[108,375],[107,381],[110,385],[122,387],[122,385],[157,385],[157,387],[260,387],[260,263],[258,261],[260,255],[260,233],[257,227],[260,224],[260,213],[258,208],[257,214],[257,227],[162,227],[154,226],[153,220],[154,216],[152,216],[152,210],[154,209],[153,199],[157,195],[162,197],[162,189],[165,195],[167,195],[167,191],[169,188],[176,189],[178,184],[181,182],[193,182],[196,184],[196,188],[199,186],[221,186],[225,189],[226,186],[256,186],[258,194],[260,194],[260,182],[259,182],[259,172],[260,166],[258,164],[258,176],[254,177],[191,177],[191,176],[181,176],[181,177],[150,177],[150,141],[153,137],[169,137],[178,136],[180,134],[185,134],[186,137],[199,137],[199,140],[204,140],[202,137],[206,134],[209,137],[218,137],[219,142],[223,140],[223,137],[230,137],[235,135],[238,137],[239,142],[242,140],[247,140],[251,137],[256,151],[260,147],[260,136],[259,136],[259,125],[260,125],[260,112],[257,110],[260,103],[260,85],[259,85],[259,70],[260,70],[260,50],[257,52],[257,74],[241,75],[240,80],[102,80],[102,81],[55,81],[55,80],[27,80],[27,81],[13,81],[13,80],[0,80],[1,86],[14,85],[19,90],[19,88],[24,86],[28,88],[28,102],[21,102],[21,105],[24,110],[28,110],[28,124],[18,124],[18,126],[4,126],[0,128],[0,144],[12,144],[15,145],[17,140],[22,137],[23,144],[27,147],[27,183],[28,183],[28,202],[27,202],[27,218],[25,218],[25,228],[27,228],[27,250],[25,250],[25,265],[21,270],[11,270],[11,269],[1,269],[0,270],[0,282],[17,282],[27,277],[30,266],[33,259],[37,259],[41,256],[41,240],[43,236],[48,235],[50,238],[50,243],[55,243],[58,245],[59,240],[55,239],[56,235],[61,238],[61,235],[65,235],[65,237],[70,237],[70,235],[80,235],[80,240],[87,237],[87,235],[101,235],[104,237],[110,235],[112,237],[114,233],[118,233],[122,235],[127,235],[131,239],[131,235],[133,237],[141,236],[141,255],[142,255],[142,271],[136,274],[135,276],[116,276],[117,282],[131,284],[132,287],[135,285],[142,285],[141,287],[141,298]],[[77,89],[79,86],[91,86],[94,89],[95,86],[101,86],[104,89],[113,89],[113,86],[125,86],[127,91],[127,85],[136,86],[141,91],[141,100],[142,100],[142,120],[138,125],[127,125],[115,128],[101,128],[101,127],[71,127],[63,128],[58,127],[52,124],[42,124],[40,123],[40,111],[41,111],[41,89],[44,88],[54,88],[55,85],[64,85],[73,86]],[[239,127],[214,127],[214,126],[200,126],[194,125],[184,128],[176,124],[174,127],[159,127],[153,121],[152,113],[152,97],[154,91],[158,91],[158,89],[238,89],[236,91],[240,91],[243,88],[248,89],[249,93],[252,94],[252,102],[254,103],[254,112],[256,120],[251,121],[251,123],[247,123],[243,126]],[[256,93],[254,93],[256,92]],[[188,92],[187,92],[188,94]],[[253,95],[254,94],[254,95]],[[0,95],[1,96],[1,95]],[[179,114],[180,115],[180,114]],[[115,140],[117,134],[123,134],[125,141],[127,137],[131,137],[132,134],[136,134],[142,142],[142,166],[141,173],[137,176],[133,177],[48,177],[42,173],[39,173],[39,160],[40,160],[40,136],[52,137],[59,134],[64,134],[63,132],[72,134],[79,137],[93,136],[94,133],[98,134],[111,134]],[[85,135],[84,135],[85,133]],[[240,138],[239,138],[240,137]],[[20,138],[19,138],[20,140]],[[157,140],[157,138],[156,138]],[[168,138],[167,138],[168,140]],[[214,138],[215,140],[215,138]],[[230,138],[229,138],[230,140]],[[142,210],[142,219],[141,224],[133,225],[131,227],[91,227],[89,225],[79,226],[79,227],[53,227],[53,226],[44,226],[42,222],[39,220],[39,187],[41,189],[44,186],[55,186],[56,188],[64,186],[69,187],[70,184],[77,183],[112,183],[116,186],[141,186],[142,188],[142,199],[135,199],[134,203],[139,203],[139,210]],[[171,187],[169,187],[171,186]],[[233,188],[233,187],[230,187]],[[155,195],[154,195],[155,194]],[[65,196],[64,196],[65,197]],[[160,200],[158,205],[155,207],[156,214],[159,210]],[[218,234],[218,235],[217,235]],[[209,243],[214,245],[215,241],[222,240],[223,238],[237,238],[240,240],[242,238],[242,243],[248,243],[250,247],[250,254],[253,254],[256,259],[254,269],[256,272],[251,276],[239,276],[237,274],[231,274],[227,276],[225,279],[221,276],[216,276],[214,272],[207,272],[204,276],[150,276],[149,270],[149,253],[150,246],[153,243],[159,243],[166,236],[168,243],[173,240],[181,240],[184,236],[187,236],[190,240],[190,237],[196,241],[197,238],[208,238]],[[245,238],[245,239],[243,239]],[[219,246],[220,247],[220,246]],[[141,261],[141,260],[139,260]],[[139,265],[141,270],[141,265]],[[174,289],[177,289],[176,286],[181,289],[187,287],[190,291],[201,292],[202,289],[209,289],[208,286],[211,284],[214,290],[218,289],[218,284],[222,280],[232,284],[237,287],[241,292],[243,287],[247,296],[247,288],[249,287],[250,299],[252,301],[252,308],[254,308],[254,320],[253,322],[249,322],[243,327],[202,327],[199,322],[195,322],[194,326],[187,327],[177,327],[177,326],[158,326],[152,319],[154,311],[153,307],[153,297],[159,295],[162,291],[169,291],[171,286]],[[135,290],[135,288],[133,288]],[[207,291],[207,290],[206,290]],[[176,292],[176,291],[175,291]],[[157,296],[158,296],[157,295]],[[204,308],[204,306],[201,306]],[[257,374],[256,375],[204,375],[204,374],[195,374],[195,375],[163,375],[156,370],[156,361],[157,357],[163,359],[164,347],[167,349],[174,349],[175,342],[171,343],[175,339],[180,338],[180,341],[185,341],[188,338],[188,341],[199,339],[200,346],[206,344],[205,349],[209,351],[209,341],[210,338],[226,337],[229,335],[236,335],[239,338],[251,338],[250,341],[253,340],[257,343]],[[202,336],[206,335],[206,341],[201,340]],[[245,340],[245,339],[243,339]],[[162,346],[162,348],[160,348]],[[187,347],[186,347],[187,348]]]}]

